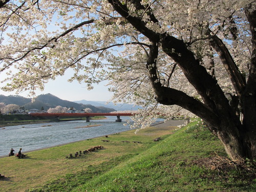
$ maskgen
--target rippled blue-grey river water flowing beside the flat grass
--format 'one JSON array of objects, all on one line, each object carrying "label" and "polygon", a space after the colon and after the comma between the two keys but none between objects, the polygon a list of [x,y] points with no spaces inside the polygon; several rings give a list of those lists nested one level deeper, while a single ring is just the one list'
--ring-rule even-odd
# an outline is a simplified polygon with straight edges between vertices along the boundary
[{"label": "rippled blue-grey river water flowing beside the flat grass", "polygon": [[[115,122],[116,119],[108,117],[90,122],[62,121],[6,126],[5,129],[0,128],[0,156],[8,155],[12,147],[14,153],[17,153],[19,148],[26,152],[130,130],[129,125],[123,125],[129,117],[121,117],[122,122]],[[94,124],[101,125],[77,128]]]}]

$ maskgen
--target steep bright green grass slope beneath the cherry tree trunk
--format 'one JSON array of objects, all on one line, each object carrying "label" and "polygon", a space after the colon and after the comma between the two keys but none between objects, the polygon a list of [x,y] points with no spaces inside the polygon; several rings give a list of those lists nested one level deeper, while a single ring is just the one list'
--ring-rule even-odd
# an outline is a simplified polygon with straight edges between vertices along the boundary
[{"label": "steep bright green grass slope beneath the cherry tree trunk", "polygon": [[[255,191],[255,169],[226,158],[220,141],[196,123],[141,153],[124,154],[28,191]],[[127,149],[126,149],[127,150]]]}]

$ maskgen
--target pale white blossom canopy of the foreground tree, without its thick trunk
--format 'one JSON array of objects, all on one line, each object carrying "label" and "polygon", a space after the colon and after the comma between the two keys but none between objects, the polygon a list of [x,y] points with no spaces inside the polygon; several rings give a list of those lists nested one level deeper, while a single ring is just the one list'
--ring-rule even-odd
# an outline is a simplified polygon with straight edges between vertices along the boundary
[{"label": "pale white blossom canopy of the foreground tree, without its thick trunk", "polygon": [[[155,99],[147,66],[151,41],[127,22],[108,0],[11,1],[0,13],[1,89],[44,90],[50,79],[68,69],[69,81],[86,84],[108,80],[114,102],[144,107],[133,126],[146,127],[159,114],[192,116],[180,106],[159,104]],[[157,34],[182,39],[207,72],[216,78],[227,99],[236,95],[230,75],[209,39],[217,35],[229,50],[238,69],[247,77],[253,57],[250,26],[244,8],[255,9],[253,0],[217,1],[119,1],[130,17],[139,18],[145,28]],[[153,16],[157,22],[153,22]],[[210,31],[210,32],[209,32]],[[186,79],[183,69],[158,47],[157,82],[182,91],[203,102],[200,93]],[[175,53],[176,50],[173,50]],[[156,83],[155,81],[155,83]],[[230,96],[231,95],[231,96]]]}]

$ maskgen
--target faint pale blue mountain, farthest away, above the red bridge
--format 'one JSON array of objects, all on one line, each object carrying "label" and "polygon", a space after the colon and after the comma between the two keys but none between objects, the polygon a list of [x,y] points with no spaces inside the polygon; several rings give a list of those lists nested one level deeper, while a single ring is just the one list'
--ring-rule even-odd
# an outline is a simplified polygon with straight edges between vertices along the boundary
[{"label": "faint pale blue mountain, farthest away, above the red bridge", "polygon": [[108,108],[113,108],[116,111],[136,111],[138,109],[142,109],[141,106],[138,105],[133,105],[133,104],[126,104],[126,103],[117,103],[114,104],[113,102],[109,102],[108,104],[106,104],[106,101],[87,101],[87,100],[80,100],[80,101],[74,101],[76,103],[81,103],[81,104],[92,104],[94,106],[106,106]]}]

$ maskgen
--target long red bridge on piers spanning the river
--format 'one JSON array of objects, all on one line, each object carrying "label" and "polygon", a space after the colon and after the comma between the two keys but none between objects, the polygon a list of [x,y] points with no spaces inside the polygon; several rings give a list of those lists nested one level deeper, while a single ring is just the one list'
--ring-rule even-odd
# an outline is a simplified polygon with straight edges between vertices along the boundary
[{"label": "long red bridge on piers spanning the river", "polygon": [[121,122],[120,116],[132,116],[135,113],[31,113],[31,116],[54,116],[57,119],[61,116],[86,117],[86,122],[90,122],[90,117],[94,116],[117,116],[116,122]]}]

